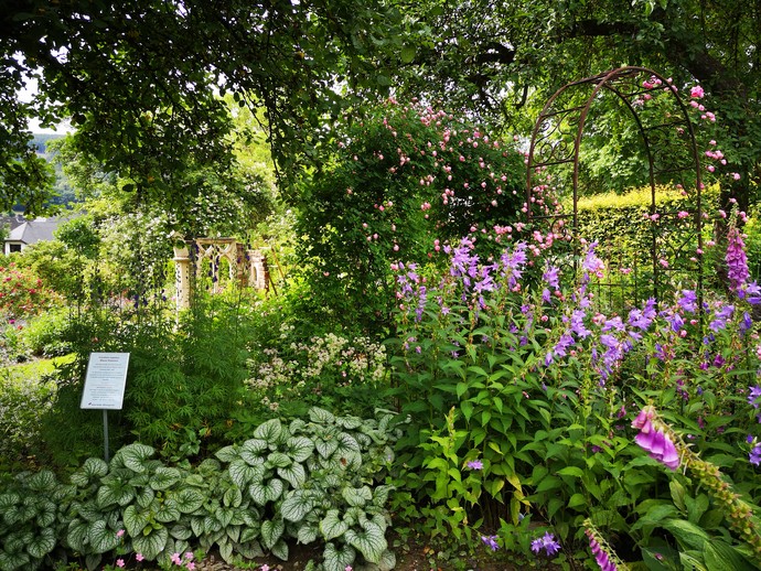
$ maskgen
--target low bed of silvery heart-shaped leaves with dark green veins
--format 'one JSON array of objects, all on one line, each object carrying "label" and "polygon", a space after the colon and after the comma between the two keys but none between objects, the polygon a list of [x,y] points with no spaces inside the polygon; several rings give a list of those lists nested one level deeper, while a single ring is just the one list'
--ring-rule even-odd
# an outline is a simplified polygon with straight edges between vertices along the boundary
[{"label": "low bed of silvery heart-shaped leaves with dark green veins", "polygon": [[0,564],[36,569],[56,546],[86,556],[89,569],[109,552],[169,564],[191,542],[216,547],[227,562],[262,548],[287,560],[286,541],[298,539],[325,543],[329,571],[360,557],[389,570],[389,487],[377,483],[399,435],[390,419],[313,408],[308,420],[265,422],[197,467],[164,465],[133,443],[108,464],[86,460],[71,484],[52,472],[20,474],[0,483]]}]

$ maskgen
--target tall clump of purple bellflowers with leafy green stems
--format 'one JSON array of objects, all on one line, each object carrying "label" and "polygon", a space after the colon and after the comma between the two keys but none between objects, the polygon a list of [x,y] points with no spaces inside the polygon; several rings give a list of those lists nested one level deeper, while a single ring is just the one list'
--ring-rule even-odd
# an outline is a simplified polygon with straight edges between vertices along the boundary
[{"label": "tall clump of purple bellflowers with leafy green stems", "polygon": [[[424,516],[432,534],[496,531],[502,546],[524,551],[526,526],[537,524],[574,551],[590,518],[628,561],[658,552],[714,569],[711,538],[741,553],[718,500],[680,474],[666,478],[624,418],[654,400],[751,502],[760,483],[738,441],[757,423],[737,411],[758,406],[738,395],[759,367],[743,301],[760,302],[758,287],[740,290],[742,299],[711,295],[705,314],[687,283],[660,311],[649,300],[607,313],[594,292],[608,277],[593,251],[578,260],[583,273],[569,290],[557,268],[528,251],[516,244],[483,265],[463,240],[449,269],[399,266],[393,365],[412,422],[399,441],[398,487],[420,500],[407,515]],[[522,282],[530,261],[544,266],[534,287]],[[677,486],[689,492],[675,504]],[[397,502],[407,506],[409,496]],[[688,531],[698,525],[699,546]],[[630,537],[641,556],[630,552]]]}]

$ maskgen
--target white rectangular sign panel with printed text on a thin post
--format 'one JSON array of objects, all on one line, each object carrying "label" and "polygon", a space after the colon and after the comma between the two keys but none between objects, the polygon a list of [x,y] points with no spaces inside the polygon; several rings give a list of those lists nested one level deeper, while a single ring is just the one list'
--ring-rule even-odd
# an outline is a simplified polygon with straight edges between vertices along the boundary
[{"label": "white rectangular sign panel with printed text on a thin post", "polygon": [[129,353],[90,353],[82,409],[121,410]]}]

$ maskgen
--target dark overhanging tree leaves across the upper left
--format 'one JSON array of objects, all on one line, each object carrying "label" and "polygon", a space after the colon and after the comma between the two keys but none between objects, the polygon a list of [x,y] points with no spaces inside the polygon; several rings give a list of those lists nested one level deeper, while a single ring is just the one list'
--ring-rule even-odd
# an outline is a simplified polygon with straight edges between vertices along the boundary
[{"label": "dark overhanging tree leaves across the upper left", "polygon": [[[4,173],[15,173],[3,185],[7,206],[28,197],[20,183],[32,182],[37,166],[25,149],[29,117],[43,127],[69,117],[75,144],[106,172],[132,179],[143,195],[176,203],[182,187],[172,179],[182,177],[187,164],[217,173],[231,164],[231,121],[219,86],[240,105],[266,108],[279,158],[292,160],[310,148],[302,127],[318,132],[323,114],[388,89],[383,71],[404,47],[401,14],[393,4],[344,0],[269,7],[238,0],[213,7],[32,2],[6,11],[2,26],[8,42],[0,91],[9,126],[2,164]],[[39,82],[30,103],[17,95],[25,77]],[[18,158],[26,163],[13,166]]]}]

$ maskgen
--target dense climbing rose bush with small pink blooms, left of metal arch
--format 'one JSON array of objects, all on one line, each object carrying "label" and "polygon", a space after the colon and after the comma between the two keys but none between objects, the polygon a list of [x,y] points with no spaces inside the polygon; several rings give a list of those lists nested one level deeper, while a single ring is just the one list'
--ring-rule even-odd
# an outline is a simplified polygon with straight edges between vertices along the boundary
[{"label": "dense climbing rose bush with small pink blooms, left of metal arch", "polygon": [[351,308],[378,331],[393,299],[389,260],[432,257],[449,239],[514,219],[523,159],[464,118],[395,100],[346,118],[334,137],[299,196],[301,257],[326,319],[341,323]]}]

